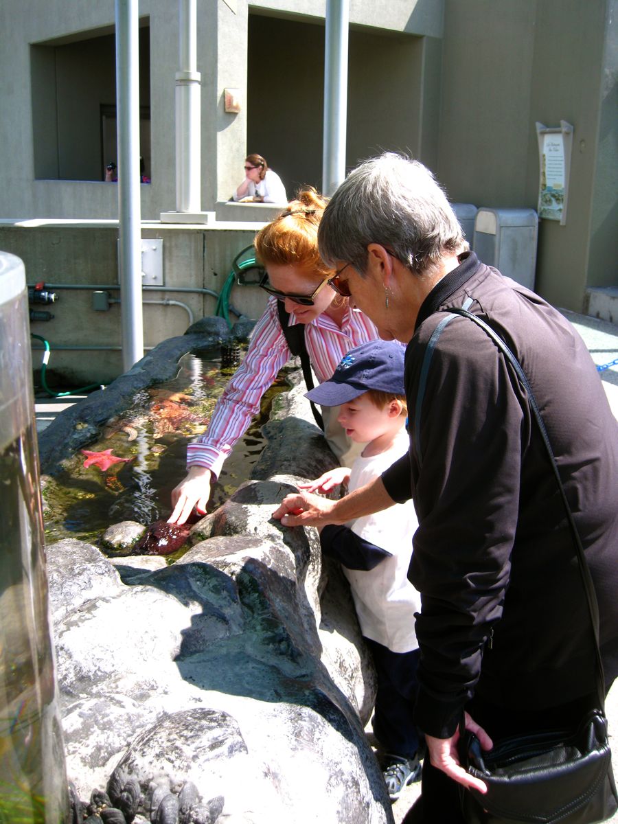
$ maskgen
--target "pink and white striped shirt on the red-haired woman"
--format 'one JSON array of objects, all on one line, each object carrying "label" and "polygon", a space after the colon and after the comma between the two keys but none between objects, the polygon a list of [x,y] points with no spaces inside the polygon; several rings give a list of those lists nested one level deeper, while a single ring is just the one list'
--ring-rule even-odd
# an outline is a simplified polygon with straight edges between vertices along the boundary
[{"label": "pink and white striped shirt on the red-haired woman", "polygon": [[[290,325],[296,323],[290,314]],[[337,364],[355,346],[379,337],[377,328],[363,312],[348,309],[341,327],[322,313],[305,325],[305,340],[311,367],[319,382],[328,380]],[[260,400],[279,369],[291,357],[277,314],[277,299],[268,305],[255,324],[249,349],[213,411],[208,429],[187,447],[187,466],[206,466],[218,477],[223,461],[243,436]]]}]

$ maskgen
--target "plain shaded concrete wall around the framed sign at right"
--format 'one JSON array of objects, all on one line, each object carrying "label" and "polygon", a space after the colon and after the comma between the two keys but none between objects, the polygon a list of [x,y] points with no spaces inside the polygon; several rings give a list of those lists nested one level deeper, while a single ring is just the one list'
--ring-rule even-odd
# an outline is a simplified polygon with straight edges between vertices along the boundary
[{"label": "plain shaded concrete wall around the framed sign at right", "polygon": [[445,7],[438,179],[454,201],[536,209],[535,123],[572,124],[567,222],[541,220],[535,288],[574,311],[587,285],[616,282],[615,5]]}]

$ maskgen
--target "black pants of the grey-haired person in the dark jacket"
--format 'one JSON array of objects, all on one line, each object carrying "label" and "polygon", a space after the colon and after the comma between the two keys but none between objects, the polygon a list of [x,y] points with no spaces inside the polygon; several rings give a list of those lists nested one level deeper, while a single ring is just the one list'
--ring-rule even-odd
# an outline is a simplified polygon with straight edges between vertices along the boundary
[{"label": "black pants of the grey-haired person in the dark jacket", "polygon": [[[574,701],[568,705],[544,709],[541,712],[513,711],[473,698],[466,710],[485,732],[494,739],[540,729],[575,727],[584,712],[595,704],[595,698]],[[461,816],[459,791],[461,784],[436,769],[429,756],[423,762],[421,797],[405,816],[404,824],[466,824]]]}]

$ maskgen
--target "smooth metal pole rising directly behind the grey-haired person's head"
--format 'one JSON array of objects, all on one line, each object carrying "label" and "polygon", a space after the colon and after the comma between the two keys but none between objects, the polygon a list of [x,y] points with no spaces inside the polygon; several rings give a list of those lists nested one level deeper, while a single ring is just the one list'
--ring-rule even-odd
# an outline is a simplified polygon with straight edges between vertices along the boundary
[{"label": "smooth metal pole rising directly behind the grey-haired person's head", "polygon": [[345,178],[348,28],[349,0],[326,0],[322,193],[329,195]]}]

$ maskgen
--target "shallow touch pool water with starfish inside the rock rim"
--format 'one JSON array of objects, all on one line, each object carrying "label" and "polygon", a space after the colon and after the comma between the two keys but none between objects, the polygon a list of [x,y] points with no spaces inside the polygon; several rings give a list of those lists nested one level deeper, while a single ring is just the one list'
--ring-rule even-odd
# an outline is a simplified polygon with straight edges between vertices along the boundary
[{"label": "shallow touch pool water with starfish inside the rock rim", "polygon": [[[213,484],[208,511],[217,508],[250,476],[265,446],[260,429],[269,418],[274,396],[289,389],[287,369],[262,399],[260,415],[236,443]],[[84,466],[79,452],[63,471],[46,479],[43,489],[44,534],[47,543],[63,538],[97,543],[112,524],[137,521],[144,526],[171,513],[171,490],[185,476],[186,447],[204,432],[233,370],[218,360],[185,355],[171,381],[133,396],[131,408],[106,424],[101,438],[87,452],[111,450],[127,459]],[[96,457],[96,456],[95,456]]]}]

